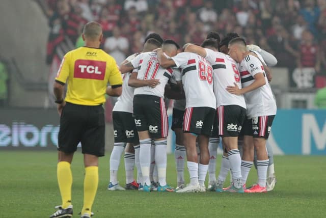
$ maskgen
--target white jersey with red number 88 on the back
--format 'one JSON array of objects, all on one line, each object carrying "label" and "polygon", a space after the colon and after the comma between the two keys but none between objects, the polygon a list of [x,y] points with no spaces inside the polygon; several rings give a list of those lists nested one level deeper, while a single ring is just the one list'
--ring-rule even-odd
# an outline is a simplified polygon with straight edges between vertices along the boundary
[{"label": "white jersey with red number 88 on the back", "polygon": [[213,92],[213,69],[209,62],[191,52],[178,53],[171,59],[182,70],[182,85],[186,107],[211,107],[216,109]]}]

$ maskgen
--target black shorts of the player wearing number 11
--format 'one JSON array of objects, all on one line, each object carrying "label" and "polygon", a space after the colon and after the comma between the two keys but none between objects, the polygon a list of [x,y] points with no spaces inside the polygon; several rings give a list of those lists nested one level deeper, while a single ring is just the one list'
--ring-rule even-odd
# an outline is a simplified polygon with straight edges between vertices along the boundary
[{"label": "black shorts of the player wearing number 11", "polygon": [[148,130],[152,139],[168,136],[169,122],[163,98],[154,95],[133,96],[133,118],[137,130]]}]

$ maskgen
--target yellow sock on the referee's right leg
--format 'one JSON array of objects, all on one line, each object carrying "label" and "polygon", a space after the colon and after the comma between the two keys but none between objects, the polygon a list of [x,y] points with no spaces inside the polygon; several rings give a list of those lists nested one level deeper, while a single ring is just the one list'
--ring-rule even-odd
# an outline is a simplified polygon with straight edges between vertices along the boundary
[{"label": "yellow sock on the referee's right leg", "polygon": [[85,168],[84,179],[84,206],[82,214],[91,214],[92,205],[95,199],[98,185],[98,167],[92,166]]}]

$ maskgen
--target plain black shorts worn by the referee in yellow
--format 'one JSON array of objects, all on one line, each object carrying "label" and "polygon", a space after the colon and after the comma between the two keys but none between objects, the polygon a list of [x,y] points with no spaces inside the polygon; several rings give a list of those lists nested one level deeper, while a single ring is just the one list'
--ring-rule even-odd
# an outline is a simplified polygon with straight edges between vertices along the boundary
[{"label": "plain black shorts worn by the referee in yellow", "polygon": [[59,151],[73,153],[80,142],[83,154],[104,156],[104,137],[105,121],[102,105],[66,103],[60,118]]}]

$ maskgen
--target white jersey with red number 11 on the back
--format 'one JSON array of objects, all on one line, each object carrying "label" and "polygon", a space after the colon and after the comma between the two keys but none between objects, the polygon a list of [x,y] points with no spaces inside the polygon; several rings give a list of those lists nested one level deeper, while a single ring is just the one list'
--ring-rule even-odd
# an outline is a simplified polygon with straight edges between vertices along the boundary
[{"label": "white jersey with red number 11 on the back", "polygon": [[172,74],[177,81],[181,80],[181,73],[177,68],[162,68],[157,59],[157,53],[150,51],[141,53],[131,61],[132,66],[138,68],[138,79],[159,79],[155,88],[149,86],[134,89],[134,95],[154,95],[164,98],[164,89]]}]

